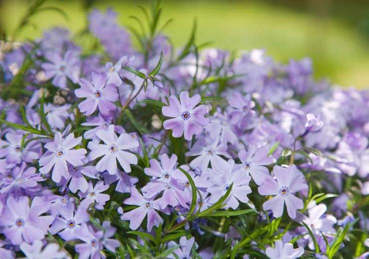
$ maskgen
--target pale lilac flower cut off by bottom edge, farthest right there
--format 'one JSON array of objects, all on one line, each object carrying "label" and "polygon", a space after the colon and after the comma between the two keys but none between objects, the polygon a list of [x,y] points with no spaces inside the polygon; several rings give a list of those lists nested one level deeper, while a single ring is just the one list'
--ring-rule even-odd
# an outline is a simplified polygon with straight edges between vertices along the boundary
[{"label": "pale lilac flower cut off by bottom edge, farthest right there", "polygon": [[296,259],[304,254],[303,248],[294,249],[291,243],[283,244],[282,240],[275,241],[275,248],[267,248],[265,254],[270,259]]}]

